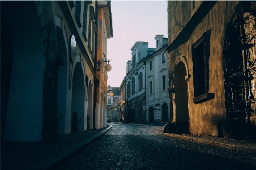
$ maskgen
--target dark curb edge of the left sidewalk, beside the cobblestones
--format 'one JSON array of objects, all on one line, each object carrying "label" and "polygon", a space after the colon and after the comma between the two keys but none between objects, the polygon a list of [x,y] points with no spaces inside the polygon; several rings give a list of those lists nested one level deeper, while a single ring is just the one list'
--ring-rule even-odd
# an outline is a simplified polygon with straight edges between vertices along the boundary
[{"label": "dark curb edge of the left sidewalk, beside the cobblestones", "polygon": [[71,147],[65,148],[62,151],[55,152],[43,159],[36,161],[35,163],[25,167],[25,169],[55,169],[64,160],[70,159],[72,156],[76,155],[79,151],[88,147],[91,143],[95,142],[109,130],[111,130],[112,125],[98,132],[95,135],[90,136],[90,138],[84,139],[81,142],[75,143]]}]

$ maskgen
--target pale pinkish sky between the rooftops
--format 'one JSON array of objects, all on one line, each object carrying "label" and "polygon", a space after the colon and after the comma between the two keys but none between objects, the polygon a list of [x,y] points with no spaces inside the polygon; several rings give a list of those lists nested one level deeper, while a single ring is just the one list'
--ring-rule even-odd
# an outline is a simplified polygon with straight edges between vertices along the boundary
[{"label": "pale pinkish sky between the rooftops", "polygon": [[107,57],[112,66],[108,85],[120,87],[136,42],[156,48],[156,35],[168,38],[167,1],[111,1],[113,37],[107,40]]}]

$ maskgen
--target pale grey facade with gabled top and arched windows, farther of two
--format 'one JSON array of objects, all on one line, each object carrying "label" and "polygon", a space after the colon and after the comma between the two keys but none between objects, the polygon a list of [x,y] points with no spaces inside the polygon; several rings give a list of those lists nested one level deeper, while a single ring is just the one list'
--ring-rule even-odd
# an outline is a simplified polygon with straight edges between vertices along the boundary
[{"label": "pale grey facade with gabled top and arched windows, farther of two", "polygon": [[132,60],[127,62],[125,76],[127,102],[127,122],[146,123],[145,103],[145,62],[144,58],[155,52],[147,42],[136,42],[131,48]]}]

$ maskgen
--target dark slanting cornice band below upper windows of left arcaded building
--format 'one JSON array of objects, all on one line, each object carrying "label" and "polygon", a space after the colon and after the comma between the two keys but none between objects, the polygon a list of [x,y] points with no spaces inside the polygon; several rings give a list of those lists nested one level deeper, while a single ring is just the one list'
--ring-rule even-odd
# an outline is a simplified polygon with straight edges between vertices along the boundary
[{"label": "dark slanting cornice band below upper windows of left arcaded building", "polygon": [[74,34],[74,36],[76,38],[76,43],[78,44],[81,52],[83,53],[83,56],[86,59],[88,66],[91,69],[92,74],[95,76],[94,66],[91,63],[90,57],[88,56],[88,54],[86,52],[86,48],[84,48],[84,44],[82,42],[82,39],[80,38],[79,32],[76,29],[74,20],[72,19],[72,15],[70,13],[70,10],[68,9],[67,1],[59,1],[59,5],[63,10],[63,14],[68,22],[68,26],[70,27],[72,34]]}]

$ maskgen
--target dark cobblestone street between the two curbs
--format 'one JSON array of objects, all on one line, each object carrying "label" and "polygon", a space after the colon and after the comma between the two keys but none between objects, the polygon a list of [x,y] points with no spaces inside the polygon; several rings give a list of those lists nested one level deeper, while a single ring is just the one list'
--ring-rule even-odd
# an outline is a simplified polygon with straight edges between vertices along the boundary
[{"label": "dark cobblestone street between the two curbs", "polygon": [[256,169],[256,155],[164,136],[162,126],[113,125],[57,169]]}]

